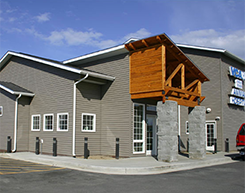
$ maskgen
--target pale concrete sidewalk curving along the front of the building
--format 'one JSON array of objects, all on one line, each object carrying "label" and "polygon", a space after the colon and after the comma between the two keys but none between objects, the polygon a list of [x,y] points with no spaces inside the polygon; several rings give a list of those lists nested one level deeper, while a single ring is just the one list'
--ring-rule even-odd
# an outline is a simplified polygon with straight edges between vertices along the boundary
[{"label": "pale concrete sidewalk curving along the front of the building", "polygon": [[237,152],[207,154],[203,160],[192,160],[179,155],[177,162],[158,162],[153,157],[122,158],[122,159],[83,159],[66,156],[36,155],[30,152],[0,153],[0,157],[35,162],[57,167],[120,175],[160,174],[181,170],[189,170],[235,162],[232,157]]}]

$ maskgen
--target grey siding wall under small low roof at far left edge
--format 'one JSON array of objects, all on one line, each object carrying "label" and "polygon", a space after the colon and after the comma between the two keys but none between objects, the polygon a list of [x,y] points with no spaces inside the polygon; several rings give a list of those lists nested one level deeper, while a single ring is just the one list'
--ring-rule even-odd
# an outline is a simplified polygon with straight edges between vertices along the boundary
[{"label": "grey siding wall under small low roof at far left edge", "polygon": [[[7,137],[14,137],[14,109],[15,96],[0,90],[0,106],[3,106],[3,115],[0,116],[0,151],[7,150]],[[12,140],[13,147],[13,140]]]}]

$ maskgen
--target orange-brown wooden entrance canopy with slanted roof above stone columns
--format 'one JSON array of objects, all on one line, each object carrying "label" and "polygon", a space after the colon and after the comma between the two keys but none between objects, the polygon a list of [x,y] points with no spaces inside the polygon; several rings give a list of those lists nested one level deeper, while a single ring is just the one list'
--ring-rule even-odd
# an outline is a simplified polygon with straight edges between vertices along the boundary
[{"label": "orange-brown wooden entrance canopy with slanted roof above stone columns", "polygon": [[131,99],[177,101],[195,107],[204,100],[201,83],[209,79],[166,34],[125,44],[130,52]]}]

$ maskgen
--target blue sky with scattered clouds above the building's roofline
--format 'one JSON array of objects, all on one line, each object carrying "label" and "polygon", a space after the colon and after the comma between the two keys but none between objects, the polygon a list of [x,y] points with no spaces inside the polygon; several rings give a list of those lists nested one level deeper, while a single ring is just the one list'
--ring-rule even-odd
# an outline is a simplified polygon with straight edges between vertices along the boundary
[{"label": "blue sky with scattered clouds above the building's roofline", "polygon": [[244,19],[245,0],[0,0],[0,57],[63,61],[166,33],[245,59]]}]

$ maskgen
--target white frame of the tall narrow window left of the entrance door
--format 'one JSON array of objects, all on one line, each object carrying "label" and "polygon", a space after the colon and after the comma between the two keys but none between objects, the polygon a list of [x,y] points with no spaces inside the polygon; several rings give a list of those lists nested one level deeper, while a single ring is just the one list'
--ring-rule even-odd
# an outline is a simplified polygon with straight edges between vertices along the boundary
[{"label": "white frame of the tall narrow window left of the entrance door", "polygon": [[[143,106],[143,120],[142,120],[142,139],[135,140],[134,139],[134,105],[142,105]],[[133,103],[133,154],[142,154],[145,153],[145,104],[141,103]],[[134,151],[134,144],[142,143],[142,151]]]}]

